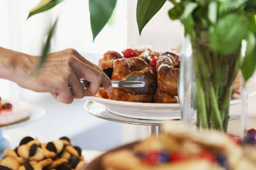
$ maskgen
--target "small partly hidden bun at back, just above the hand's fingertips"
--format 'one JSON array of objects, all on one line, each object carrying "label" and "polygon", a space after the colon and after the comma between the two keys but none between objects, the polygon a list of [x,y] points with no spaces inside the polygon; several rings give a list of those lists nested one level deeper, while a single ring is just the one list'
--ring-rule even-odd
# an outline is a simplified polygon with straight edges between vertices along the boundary
[{"label": "small partly hidden bun at back, just above the hand's fingertips", "polygon": [[122,55],[115,51],[108,51],[104,53],[103,59],[99,60],[100,69],[106,69],[108,67],[113,67],[113,60],[122,59]]}]

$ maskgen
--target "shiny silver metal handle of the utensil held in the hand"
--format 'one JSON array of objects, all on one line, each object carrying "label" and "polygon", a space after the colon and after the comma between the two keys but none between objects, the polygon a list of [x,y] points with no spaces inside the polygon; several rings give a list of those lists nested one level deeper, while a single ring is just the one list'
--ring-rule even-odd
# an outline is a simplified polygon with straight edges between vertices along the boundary
[{"label": "shiny silver metal handle of the utensil held in the hand", "polygon": [[[90,86],[90,82],[84,79],[80,79],[81,84],[84,88],[88,88]],[[144,87],[144,81],[127,81],[127,80],[111,80],[112,86],[116,87],[125,87],[125,88],[140,88]],[[100,85],[102,87],[102,85]]]}]

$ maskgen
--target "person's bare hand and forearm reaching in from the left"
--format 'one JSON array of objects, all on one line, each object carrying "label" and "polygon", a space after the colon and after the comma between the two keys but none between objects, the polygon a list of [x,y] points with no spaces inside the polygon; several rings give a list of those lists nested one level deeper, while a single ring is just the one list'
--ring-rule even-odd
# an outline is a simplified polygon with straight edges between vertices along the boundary
[{"label": "person's bare hand and forearm reaching in from the left", "polygon": [[[95,96],[102,84],[106,92],[113,88],[108,76],[74,49],[49,53],[42,69],[35,71],[40,56],[15,52],[0,47],[0,78],[35,92],[50,92],[62,103],[74,98]],[[90,82],[84,89],[80,78]]]}]

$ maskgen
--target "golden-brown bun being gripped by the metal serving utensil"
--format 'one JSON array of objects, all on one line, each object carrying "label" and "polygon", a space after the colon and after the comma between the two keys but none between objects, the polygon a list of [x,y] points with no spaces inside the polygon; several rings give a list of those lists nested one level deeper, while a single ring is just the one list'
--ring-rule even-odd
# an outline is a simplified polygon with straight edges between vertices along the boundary
[{"label": "golden-brown bun being gripped by the metal serving utensil", "polygon": [[148,76],[150,87],[145,94],[132,94],[125,92],[124,89],[113,89],[113,92],[108,94],[108,99],[118,101],[132,101],[132,102],[153,102],[154,91],[156,90],[156,71],[148,66],[145,60],[138,57],[129,59],[114,60],[112,80],[123,80],[127,76],[145,75]]}]

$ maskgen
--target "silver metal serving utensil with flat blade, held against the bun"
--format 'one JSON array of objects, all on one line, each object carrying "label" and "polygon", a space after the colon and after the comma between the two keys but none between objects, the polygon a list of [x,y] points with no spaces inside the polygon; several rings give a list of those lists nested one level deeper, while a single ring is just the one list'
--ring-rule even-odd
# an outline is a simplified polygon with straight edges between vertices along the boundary
[{"label": "silver metal serving utensil with flat blade, held against the bun", "polygon": [[[104,73],[111,79],[113,68],[109,67],[103,70]],[[147,75],[134,75],[128,76],[123,80],[111,80],[113,88],[122,88],[126,92],[131,92],[133,94],[143,94],[148,92],[150,89],[150,78]],[[90,86],[90,82],[84,79],[80,79],[84,88],[88,88]],[[100,85],[102,87],[102,85]]]}]

